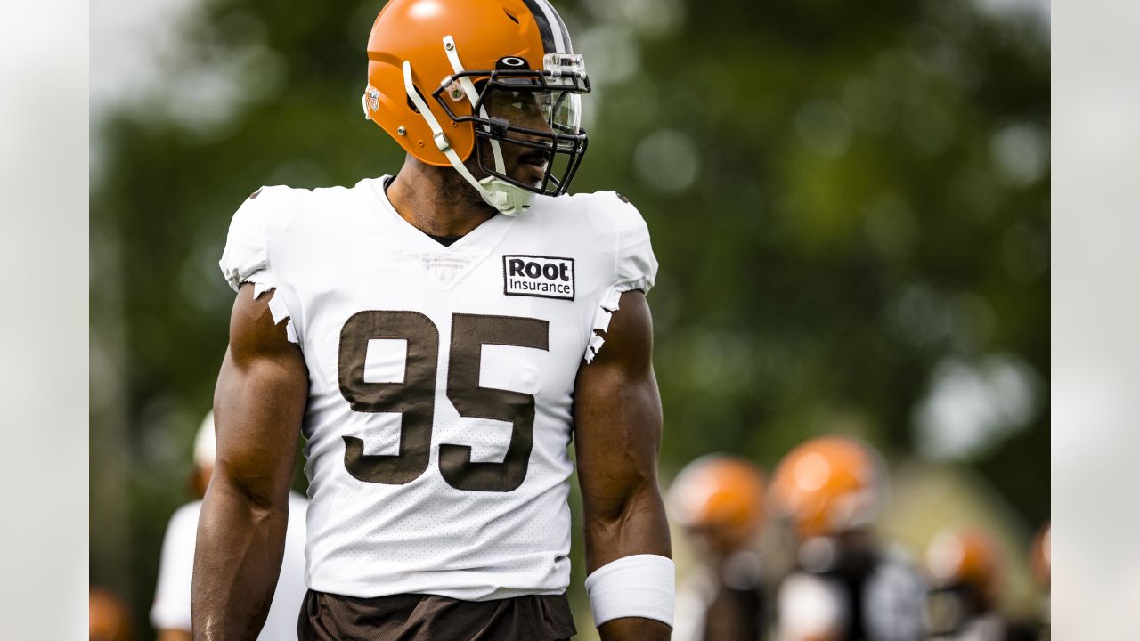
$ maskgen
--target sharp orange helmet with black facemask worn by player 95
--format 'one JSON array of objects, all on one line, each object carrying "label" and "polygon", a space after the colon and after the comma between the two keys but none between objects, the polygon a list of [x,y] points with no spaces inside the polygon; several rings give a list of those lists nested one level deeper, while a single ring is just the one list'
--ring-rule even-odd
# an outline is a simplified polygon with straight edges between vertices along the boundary
[{"label": "sharp orange helmet with black facemask worn by player 95", "polygon": [[[545,125],[531,124],[537,116],[489,115],[497,91],[524,96]],[[580,99],[588,91],[583,58],[547,0],[391,0],[368,36],[365,117],[421,162],[454,167],[507,214],[535,193],[570,186],[586,152]],[[479,144],[492,152],[475,154],[488,175],[481,180],[464,165]],[[503,144],[548,154],[539,184],[507,176]],[[491,155],[494,167],[484,162]]]}]

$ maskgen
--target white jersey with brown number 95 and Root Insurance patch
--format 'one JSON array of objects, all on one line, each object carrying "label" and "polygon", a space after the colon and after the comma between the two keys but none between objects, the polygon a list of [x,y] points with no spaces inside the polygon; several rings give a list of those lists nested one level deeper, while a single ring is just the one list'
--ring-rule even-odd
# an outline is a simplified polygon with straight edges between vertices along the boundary
[{"label": "white jersey with brown number 95 and Root Insurance patch", "polygon": [[275,290],[309,370],[309,587],[562,593],[575,378],[620,294],[653,284],[645,222],[612,192],[537,196],[445,248],[385,181],[264,187],[221,260]]}]

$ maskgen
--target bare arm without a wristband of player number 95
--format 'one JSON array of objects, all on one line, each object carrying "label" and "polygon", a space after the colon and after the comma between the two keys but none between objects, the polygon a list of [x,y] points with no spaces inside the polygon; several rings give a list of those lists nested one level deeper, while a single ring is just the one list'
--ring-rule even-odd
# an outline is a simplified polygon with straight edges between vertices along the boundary
[{"label": "bare arm without a wristband of player number 95", "polygon": [[230,316],[229,348],[214,391],[218,461],[198,522],[194,639],[258,636],[277,584],[308,371],[274,292],[245,284]]}]

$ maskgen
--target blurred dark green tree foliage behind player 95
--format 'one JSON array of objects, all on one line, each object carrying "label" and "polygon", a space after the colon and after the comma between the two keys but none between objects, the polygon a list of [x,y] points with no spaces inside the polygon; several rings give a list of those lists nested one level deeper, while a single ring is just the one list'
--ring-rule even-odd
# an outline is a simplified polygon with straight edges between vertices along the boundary
[{"label": "blurred dark green tree foliage behind player 95", "polygon": [[[1044,520],[1048,35],[956,0],[557,5],[596,87],[576,190],[629,196],[661,262],[663,476],[829,431],[897,460],[940,362],[1005,354],[1032,420],[974,463]],[[165,86],[97,123],[91,577],[140,616],[226,349],[230,216],[400,167],[359,111],[378,8],[203,2]]]}]

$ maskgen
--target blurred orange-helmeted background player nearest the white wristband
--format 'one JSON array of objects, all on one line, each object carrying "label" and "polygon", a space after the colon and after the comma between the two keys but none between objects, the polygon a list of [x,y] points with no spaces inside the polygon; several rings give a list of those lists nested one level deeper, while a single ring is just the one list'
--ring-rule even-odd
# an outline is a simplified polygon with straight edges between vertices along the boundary
[{"label": "blurred orange-helmeted background player nearest the white wristband", "polygon": [[769,609],[756,551],[764,522],[759,468],[736,456],[702,456],[677,476],[669,506],[701,563],[681,585],[673,639],[765,639]]}]

